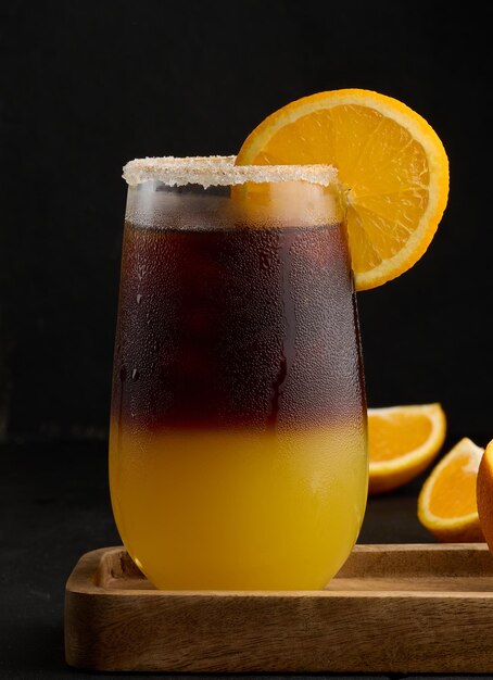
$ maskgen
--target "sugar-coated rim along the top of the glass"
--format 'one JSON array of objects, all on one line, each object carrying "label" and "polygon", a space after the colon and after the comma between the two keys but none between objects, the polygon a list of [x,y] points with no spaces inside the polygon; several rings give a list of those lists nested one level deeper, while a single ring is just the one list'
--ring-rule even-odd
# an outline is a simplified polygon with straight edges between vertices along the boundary
[{"label": "sugar-coated rim along the top of the glass", "polygon": [[123,178],[130,187],[146,181],[161,181],[169,187],[210,186],[253,182],[307,181],[329,186],[338,180],[332,165],[235,165],[233,155],[163,156],[129,161]]}]

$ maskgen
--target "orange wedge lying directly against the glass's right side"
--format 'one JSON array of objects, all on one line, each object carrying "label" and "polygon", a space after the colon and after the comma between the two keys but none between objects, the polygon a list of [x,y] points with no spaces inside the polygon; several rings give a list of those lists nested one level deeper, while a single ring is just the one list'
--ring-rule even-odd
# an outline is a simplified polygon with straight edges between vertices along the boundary
[{"label": "orange wedge lying directly against the glass's right side", "polygon": [[440,451],[445,431],[438,403],[368,408],[368,492],[391,491],[417,477]]}]

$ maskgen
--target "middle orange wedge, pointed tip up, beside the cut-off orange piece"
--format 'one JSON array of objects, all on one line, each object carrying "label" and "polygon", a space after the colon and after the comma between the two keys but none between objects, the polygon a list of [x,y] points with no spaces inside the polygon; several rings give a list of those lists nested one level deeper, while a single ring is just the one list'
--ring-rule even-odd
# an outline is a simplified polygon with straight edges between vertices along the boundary
[{"label": "middle orange wedge, pointed tip up, beside the cut-off orange piece", "polygon": [[443,456],[422,486],[418,518],[439,541],[484,541],[476,502],[483,451],[465,437]]}]

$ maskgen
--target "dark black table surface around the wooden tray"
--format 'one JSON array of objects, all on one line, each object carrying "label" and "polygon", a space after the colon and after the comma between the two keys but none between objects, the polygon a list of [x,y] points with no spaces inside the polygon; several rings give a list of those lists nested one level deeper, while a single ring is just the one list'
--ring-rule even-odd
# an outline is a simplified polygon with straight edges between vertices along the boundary
[{"label": "dark black table surface around the wooden tray", "polygon": [[[106,450],[104,442],[0,446],[1,680],[165,675],[80,672],[68,668],[64,660],[66,579],[84,553],[121,543],[110,506]],[[416,516],[425,477],[387,495],[370,498],[358,543],[433,542]]]}]

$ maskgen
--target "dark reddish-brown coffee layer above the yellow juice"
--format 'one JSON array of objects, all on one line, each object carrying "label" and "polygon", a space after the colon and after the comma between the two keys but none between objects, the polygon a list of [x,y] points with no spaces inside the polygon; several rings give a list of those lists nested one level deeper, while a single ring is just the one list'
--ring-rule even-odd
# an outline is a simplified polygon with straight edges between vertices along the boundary
[{"label": "dark reddish-brown coffee layer above the yellow juice", "polygon": [[112,415],[136,428],[362,417],[344,227],[125,226]]}]

